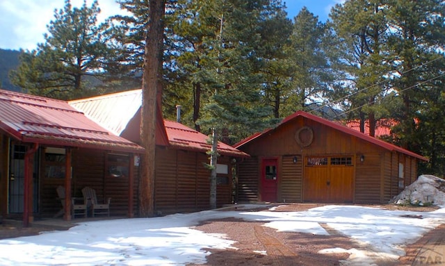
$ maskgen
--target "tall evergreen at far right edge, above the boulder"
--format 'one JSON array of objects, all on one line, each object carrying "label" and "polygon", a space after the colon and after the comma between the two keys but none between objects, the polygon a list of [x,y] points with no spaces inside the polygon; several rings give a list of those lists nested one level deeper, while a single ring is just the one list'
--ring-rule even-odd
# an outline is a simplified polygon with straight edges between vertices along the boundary
[{"label": "tall evergreen at far right edge, above the boulder", "polygon": [[[391,106],[397,144],[430,158],[426,170],[443,174],[445,111],[445,3],[439,0],[391,1],[389,54],[394,68]],[[441,175],[442,175],[441,174]]]}]

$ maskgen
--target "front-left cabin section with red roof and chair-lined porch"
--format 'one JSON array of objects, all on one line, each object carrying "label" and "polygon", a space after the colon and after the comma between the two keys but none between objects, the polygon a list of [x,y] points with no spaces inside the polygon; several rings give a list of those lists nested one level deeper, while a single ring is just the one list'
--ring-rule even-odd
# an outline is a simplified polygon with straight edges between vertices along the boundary
[{"label": "front-left cabin section with red roof and chair-lined porch", "polygon": [[[137,167],[143,148],[111,133],[67,101],[0,90],[0,215],[51,217],[62,208],[56,188],[65,188],[64,219],[72,197],[85,186],[111,197],[112,215],[133,217]],[[119,176],[111,174],[120,169]]]}]

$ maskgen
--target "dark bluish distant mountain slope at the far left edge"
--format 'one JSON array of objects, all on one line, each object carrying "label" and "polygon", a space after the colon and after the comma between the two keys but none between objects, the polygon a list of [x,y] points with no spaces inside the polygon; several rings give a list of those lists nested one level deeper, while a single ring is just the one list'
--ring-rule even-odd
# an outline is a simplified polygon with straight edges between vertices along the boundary
[{"label": "dark bluish distant mountain slope at the far left edge", "polygon": [[19,66],[20,51],[0,49],[0,88],[20,92],[20,88],[10,83],[9,72]]}]

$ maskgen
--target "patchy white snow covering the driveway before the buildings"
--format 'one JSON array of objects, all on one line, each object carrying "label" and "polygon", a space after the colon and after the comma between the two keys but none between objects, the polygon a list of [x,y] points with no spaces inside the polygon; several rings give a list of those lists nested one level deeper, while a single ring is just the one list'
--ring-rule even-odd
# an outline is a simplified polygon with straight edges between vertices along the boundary
[{"label": "patchy white snow covering the driveway before the buildings", "polygon": [[[433,176],[434,177],[434,176]],[[412,185],[420,191],[424,179]],[[437,181],[426,181],[431,183]],[[416,187],[417,186],[417,187]],[[411,189],[411,188],[410,188]],[[436,188],[437,189],[437,188]],[[428,188],[435,203],[443,194]],[[414,201],[415,193],[410,193]],[[226,217],[264,222],[279,231],[327,235],[320,225],[355,240],[360,249],[338,247],[321,253],[350,253],[343,265],[376,265],[381,260],[403,256],[405,244],[415,242],[444,222],[445,208],[430,213],[384,210],[364,206],[329,205],[302,212],[246,211],[255,206],[238,206],[236,211],[207,210],[156,218],[115,219],[84,222],[69,231],[0,240],[0,265],[186,265],[205,263],[207,249],[233,249],[224,235],[207,234],[193,226],[200,221]],[[271,211],[272,210],[272,211]],[[421,219],[419,219],[421,218]],[[264,253],[264,251],[256,251]]]}]

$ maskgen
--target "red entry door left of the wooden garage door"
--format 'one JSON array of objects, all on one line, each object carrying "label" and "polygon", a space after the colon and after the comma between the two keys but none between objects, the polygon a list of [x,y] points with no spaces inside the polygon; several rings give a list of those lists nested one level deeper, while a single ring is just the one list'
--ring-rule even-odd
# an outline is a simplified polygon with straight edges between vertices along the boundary
[{"label": "red entry door left of the wooden garage door", "polygon": [[277,201],[277,159],[263,159],[261,165],[261,200]]}]

